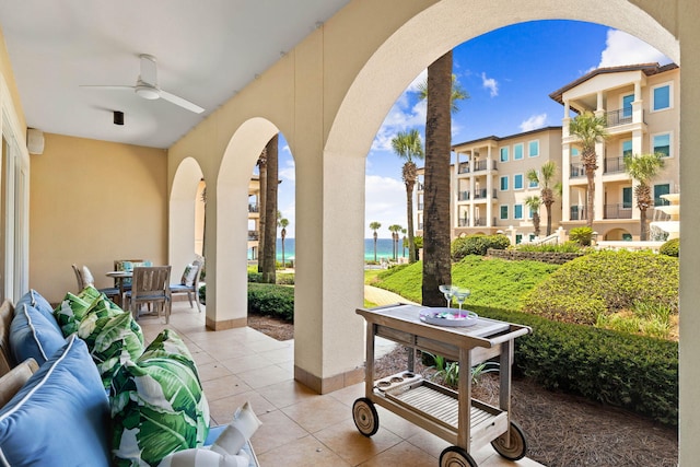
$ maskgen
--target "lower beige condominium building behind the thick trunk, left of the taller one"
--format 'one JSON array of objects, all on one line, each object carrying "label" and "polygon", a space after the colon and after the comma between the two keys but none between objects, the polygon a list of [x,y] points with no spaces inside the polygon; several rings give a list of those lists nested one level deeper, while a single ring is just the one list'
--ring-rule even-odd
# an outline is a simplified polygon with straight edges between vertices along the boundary
[{"label": "lower beige condominium building behind the thick trunk, left of the taller one", "polygon": [[[520,242],[535,236],[533,213],[525,200],[540,196],[540,186],[530,183],[527,172],[540,171],[548,161],[561,166],[561,127],[547,127],[509,137],[487,137],[452,147],[451,165],[452,236],[494,234],[499,231]],[[418,235],[423,225],[422,170],[417,189]],[[558,171],[555,183],[561,179]],[[541,206],[540,236],[546,233],[547,212]],[[552,229],[561,220],[561,205],[552,206]]]}]

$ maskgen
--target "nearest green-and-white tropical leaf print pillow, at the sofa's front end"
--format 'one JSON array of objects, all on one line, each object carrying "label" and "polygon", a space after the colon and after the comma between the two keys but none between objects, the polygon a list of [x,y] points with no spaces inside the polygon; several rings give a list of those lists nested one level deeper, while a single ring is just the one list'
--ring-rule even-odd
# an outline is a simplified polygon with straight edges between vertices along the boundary
[{"label": "nearest green-and-white tropical leaf print pillow, at the sofa's front end", "polygon": [[183,340],[165,329],[117,371],[110,398],[117,466],[156,466],[171,453],[202,446],[209,405]]}]

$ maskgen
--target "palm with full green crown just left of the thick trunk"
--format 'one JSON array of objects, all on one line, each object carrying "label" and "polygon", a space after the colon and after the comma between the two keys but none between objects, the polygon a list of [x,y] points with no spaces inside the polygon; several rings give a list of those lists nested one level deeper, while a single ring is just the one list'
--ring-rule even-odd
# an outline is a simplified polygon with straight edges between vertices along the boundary
[{"label": "palm with full green crown just left of the thick trunk", "polygon": [[399,131],[392,139],[394,152],[406,162],[401,168],[401,178],[406,185],[406,220],[408,222],[408,262],[416,262],[416,248],[413,248],[413,186],[418,178],[418,167],[413,160],[422,160],[423,144],[418,130],[408,132]]}]

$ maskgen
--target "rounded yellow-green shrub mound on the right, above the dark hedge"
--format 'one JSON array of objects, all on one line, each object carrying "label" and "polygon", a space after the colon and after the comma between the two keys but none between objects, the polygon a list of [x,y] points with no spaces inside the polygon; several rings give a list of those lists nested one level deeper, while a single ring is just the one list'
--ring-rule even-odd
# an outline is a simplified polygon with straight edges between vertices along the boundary
[{"label": "rounded yellow-green shrub mound on the right, above the dark hedge", "polygon": [[598,314],[653,302],[678,312],[678,260],[651,252],[597,252],[562,265],[523,296],[522,311],[594,325]]}]

